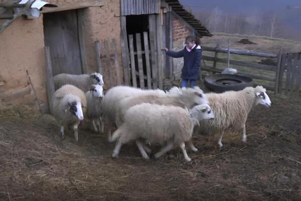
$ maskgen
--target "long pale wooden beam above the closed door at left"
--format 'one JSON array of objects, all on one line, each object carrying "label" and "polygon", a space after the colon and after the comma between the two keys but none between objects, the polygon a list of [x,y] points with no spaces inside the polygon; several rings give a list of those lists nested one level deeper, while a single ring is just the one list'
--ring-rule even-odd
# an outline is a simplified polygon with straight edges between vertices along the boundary
[{"label": "long pale wooden beam above the closed door at left", "polygon": [[44,7],[41,13],[53,13],[59,11],[67,11],[74,9],[83,9],[87,7],[101,7],[105,5],[104,0],[90,0],[78,3],[69,3],[69,4],[58,4],[58,7]]}]

